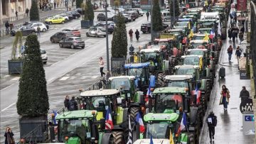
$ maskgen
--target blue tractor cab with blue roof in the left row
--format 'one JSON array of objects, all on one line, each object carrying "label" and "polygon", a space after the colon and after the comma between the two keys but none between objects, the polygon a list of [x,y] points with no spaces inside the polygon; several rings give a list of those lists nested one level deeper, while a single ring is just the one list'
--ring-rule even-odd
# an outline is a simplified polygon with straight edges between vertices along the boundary
[{"label": "blue tractor cab with blue roof in the left row", "polygon": [[126,75],[135,77],[135,86],[141,89],[142,92],[144,91],[143,89],[149,87],[149,65],[150,62],[124,65]]}]

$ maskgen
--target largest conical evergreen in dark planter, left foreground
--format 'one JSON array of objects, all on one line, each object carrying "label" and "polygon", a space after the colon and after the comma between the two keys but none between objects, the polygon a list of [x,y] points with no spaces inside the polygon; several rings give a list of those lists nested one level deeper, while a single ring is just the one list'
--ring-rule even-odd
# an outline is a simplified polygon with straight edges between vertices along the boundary
[{"label": "largest conical evergreen in dark planter, left foreground", "polygon": [[[17,112],[20,116],[20,138],[33,131],[31,140],[43,141],[47,135],[47,113],[49,110],[46,74],[36,35],[26,38],[26,55],[23,58],[23,72],[18,85]],[[28,139],[30,139],[28,138]]]}]

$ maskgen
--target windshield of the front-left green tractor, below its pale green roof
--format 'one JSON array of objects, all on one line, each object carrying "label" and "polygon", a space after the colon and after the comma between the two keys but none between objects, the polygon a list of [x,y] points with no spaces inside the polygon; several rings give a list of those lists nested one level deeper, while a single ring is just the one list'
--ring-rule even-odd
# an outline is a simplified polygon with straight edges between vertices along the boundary
[{"label": "windshield of the front-left green tractor, below its pale green roof", "polygon": [[89,120],[60,120],[58,122],[58,139],[60,142],[65,142],[65,137],[79,137],[82,143],[85,143],[86,138],[90,138],[90,123]]}]

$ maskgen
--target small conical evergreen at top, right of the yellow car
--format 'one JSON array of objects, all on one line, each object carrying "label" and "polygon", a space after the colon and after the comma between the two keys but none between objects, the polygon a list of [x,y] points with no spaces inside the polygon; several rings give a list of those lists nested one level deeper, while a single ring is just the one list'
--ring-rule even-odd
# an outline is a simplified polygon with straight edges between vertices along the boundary
[{"label": "small conical evergreen at top, right of the yellow car", "polygon": [[90,28],[93,26],[94,11],[90,0],[86,1],[85,4],[81,4],[82,9],[85,11],[83,20],[81,21],[81,28]]}]

